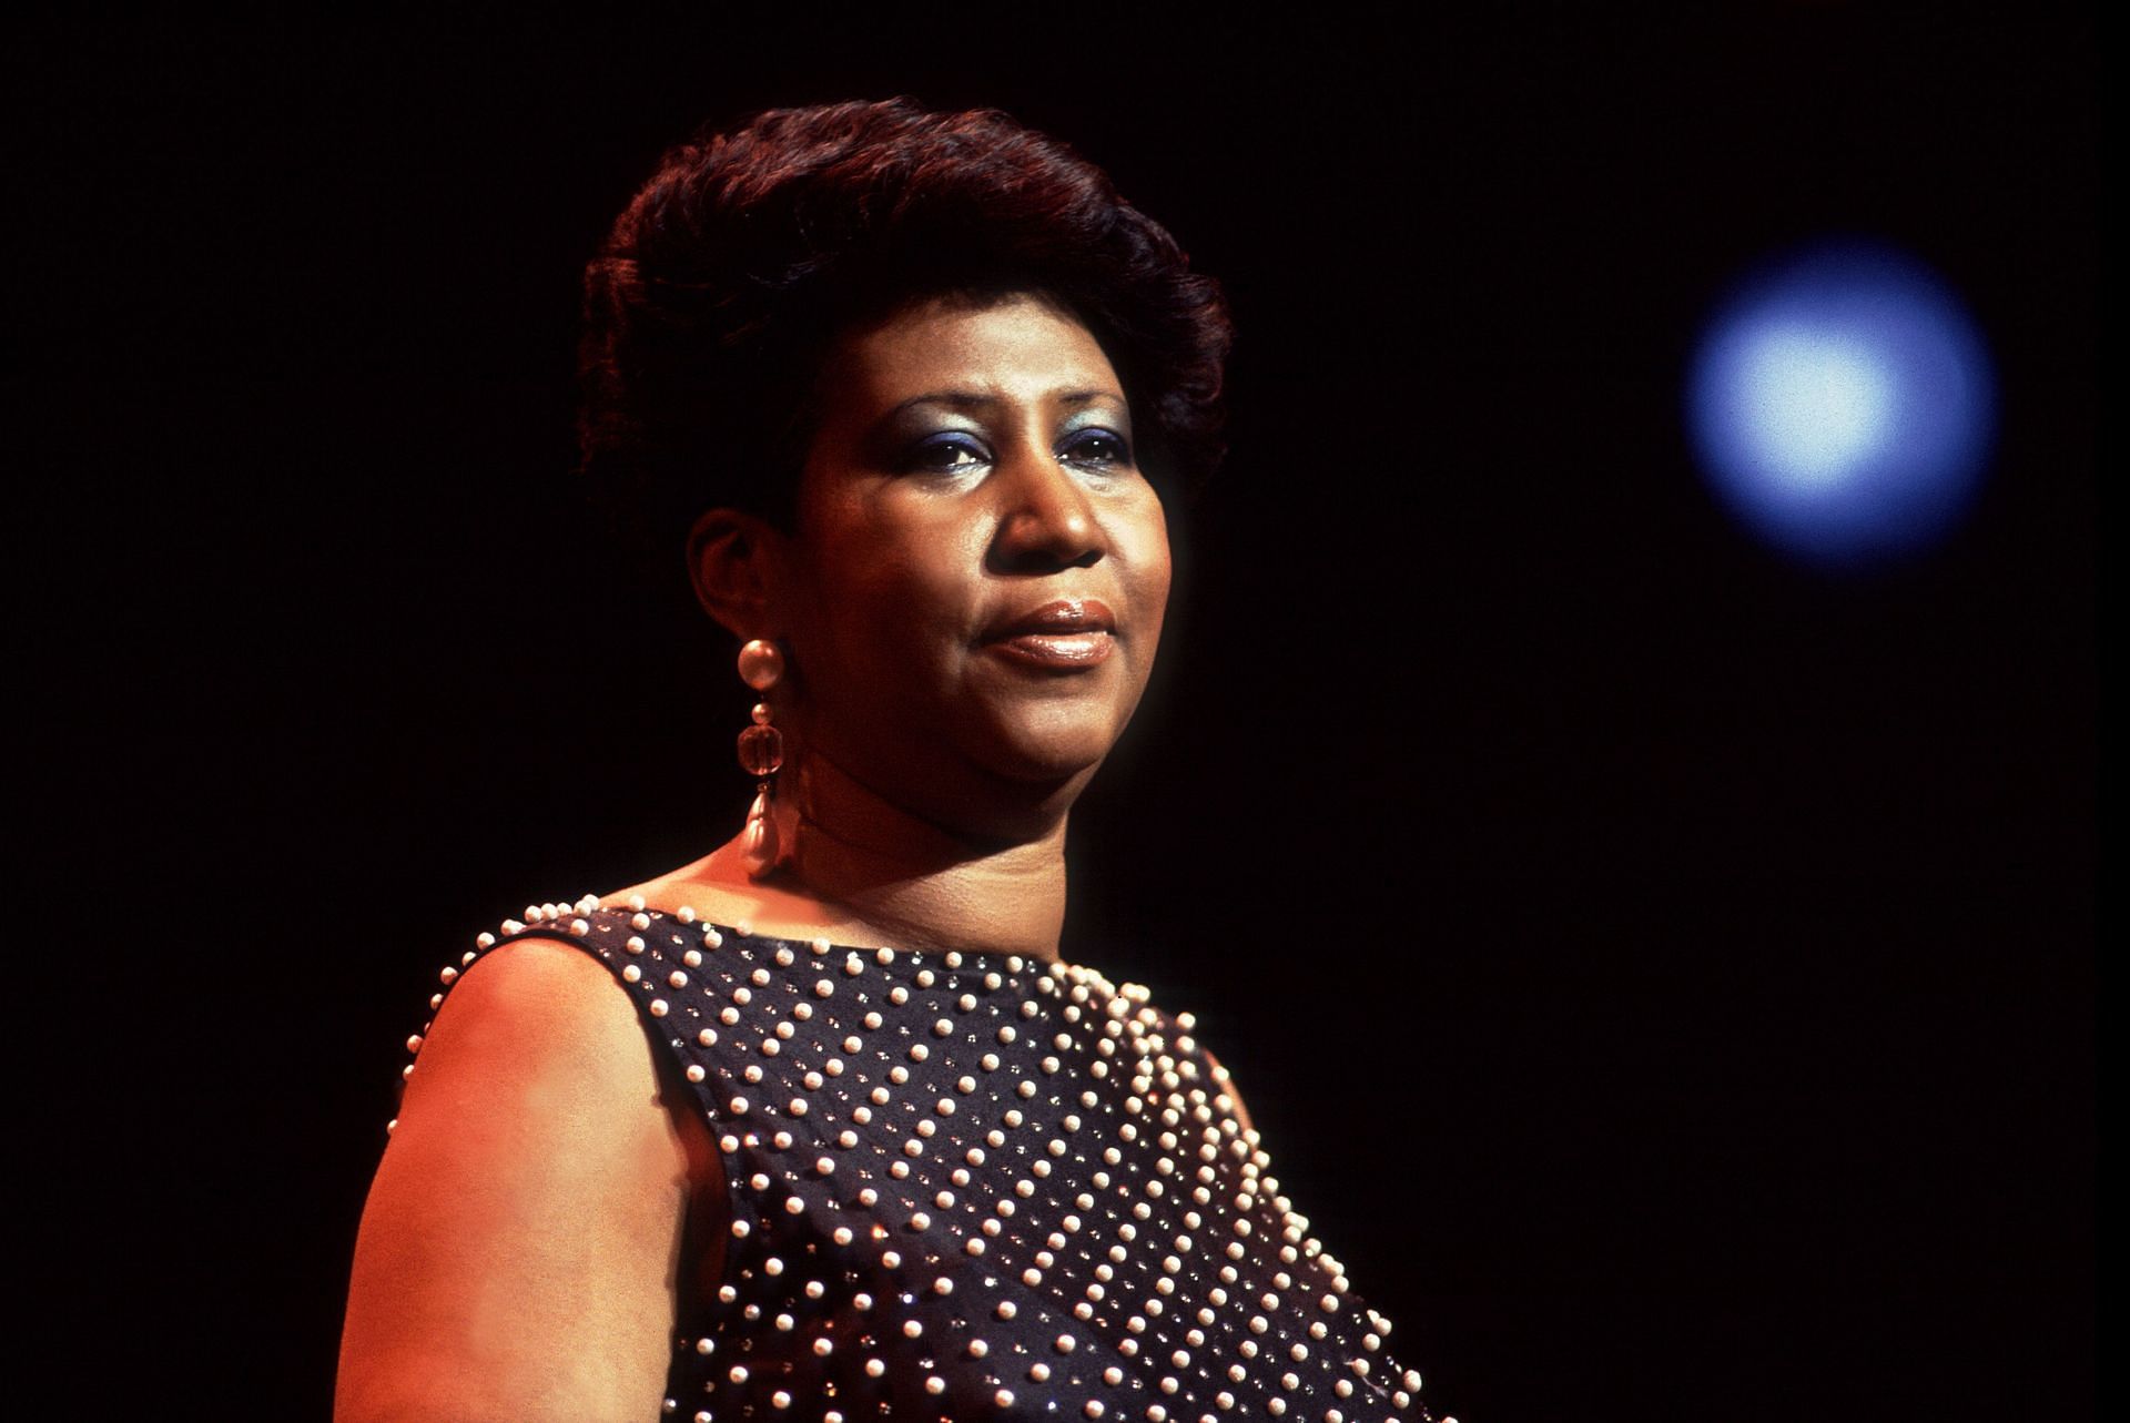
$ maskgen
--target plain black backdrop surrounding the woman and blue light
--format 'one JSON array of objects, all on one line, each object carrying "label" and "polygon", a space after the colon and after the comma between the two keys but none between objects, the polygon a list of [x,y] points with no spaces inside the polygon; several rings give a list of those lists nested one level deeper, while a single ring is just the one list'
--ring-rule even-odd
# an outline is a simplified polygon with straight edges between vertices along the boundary
[{"label": "plain black backdrop surrounding the woman and blue light", "polygon": [[[577,271],[694,124],[897,92],[1065,136],[1233,296],[1067,952],[1199,1012],[1433,1404],[2090,1412],[2092,19],[750,9],[11,45],[75,1414],[320,1417],[435,969],[737,827],[728,648],[571,479]],[[2000,377],[1972,518],[1868,577],[1740,535],[1678,420],[1821,232]]]}]

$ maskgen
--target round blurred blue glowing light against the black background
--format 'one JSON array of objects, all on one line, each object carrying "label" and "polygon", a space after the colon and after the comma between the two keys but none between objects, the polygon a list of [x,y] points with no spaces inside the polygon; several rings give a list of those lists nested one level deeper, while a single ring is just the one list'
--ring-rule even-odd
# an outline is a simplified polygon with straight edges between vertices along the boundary
[{"label": "round blurred blue glowing light against the black background", "polygon": [[1723,503],[1821,565],[1934,543],[1972,501],[1996,422],[1966,311],[1913,258],[1862,243],[1742,283],[1702,337],[1687,400]]}]

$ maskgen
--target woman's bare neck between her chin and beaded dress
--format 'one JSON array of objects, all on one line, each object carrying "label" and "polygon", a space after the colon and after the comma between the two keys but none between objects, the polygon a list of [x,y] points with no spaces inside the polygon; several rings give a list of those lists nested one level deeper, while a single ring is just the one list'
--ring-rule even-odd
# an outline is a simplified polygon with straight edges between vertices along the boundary
[{"label": "woman's bare neck between her chin and beaded dress", "polygon": [[754,880],[735,835],[620,895],[773,937],[1059,956],[1063,812],[1035,839],[986,846],[890,805],[820,756],[780,782],[784,856],[773,873]]}]

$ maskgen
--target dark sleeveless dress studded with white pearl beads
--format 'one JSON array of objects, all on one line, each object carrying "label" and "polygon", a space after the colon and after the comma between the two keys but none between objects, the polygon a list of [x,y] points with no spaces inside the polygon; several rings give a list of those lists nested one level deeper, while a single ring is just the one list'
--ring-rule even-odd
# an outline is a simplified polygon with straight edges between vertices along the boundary
[{"label": "dark sleeveless dress studded with white pearl beads", "polygon": [[515,937],[613,971],[724,1159],[724,1274],[667,1419],[1431,1419],[1144,988],[581,899],[479,935],[430,1010]]}]

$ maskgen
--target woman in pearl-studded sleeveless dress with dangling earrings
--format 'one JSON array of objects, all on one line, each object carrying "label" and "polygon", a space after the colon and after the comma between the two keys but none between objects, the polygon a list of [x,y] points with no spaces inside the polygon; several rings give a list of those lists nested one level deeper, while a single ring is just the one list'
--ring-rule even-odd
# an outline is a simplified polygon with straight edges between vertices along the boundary
[{"label": "woman in pearl-studded sleeveless dress with dangling earrings", "polygon": [[1423,1419],[1225,1069],[1059,959],[1227,317],[997,113],[684,145],[588,273],[588,473],[741,643],[741,833],[443,971],[339,1414]]}]

